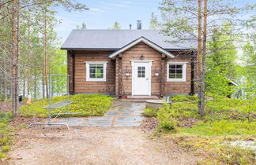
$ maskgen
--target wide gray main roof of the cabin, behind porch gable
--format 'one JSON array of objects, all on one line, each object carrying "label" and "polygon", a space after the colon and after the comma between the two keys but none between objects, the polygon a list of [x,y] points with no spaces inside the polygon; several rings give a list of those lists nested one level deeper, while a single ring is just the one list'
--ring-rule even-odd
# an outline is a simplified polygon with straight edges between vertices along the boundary
[{"label": "wide gray main roof of the cabin, behind porch gable", "polygon": [[120,49],[137,38],[145,37],[164,49],[190,49],[192,42],[171,44],[170,37],[157,30],[73,30],[61,49]]}]

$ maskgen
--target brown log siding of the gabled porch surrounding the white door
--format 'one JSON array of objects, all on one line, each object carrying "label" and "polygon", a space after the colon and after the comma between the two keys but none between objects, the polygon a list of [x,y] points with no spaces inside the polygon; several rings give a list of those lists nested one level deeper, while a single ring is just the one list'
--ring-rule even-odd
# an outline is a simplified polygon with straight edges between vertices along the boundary
[{"label": "brown log siding of the gabled porch surrounding the white door", "polygon": [[[161,68],[161,53],[152,49],[150,46],[141,42],[130,49],[127,49],[122,53],[122,91],[123,95],[132,94],[132,68],[130,60],[140,60],[141,54],[144,56],[144,60],[152,61],[152,73],[151,73],[151,94],[160,95],[160,75],[155,75],[155,70],[160,70]],[[127,76],[126,66],[130,71],[130,75]]]}]

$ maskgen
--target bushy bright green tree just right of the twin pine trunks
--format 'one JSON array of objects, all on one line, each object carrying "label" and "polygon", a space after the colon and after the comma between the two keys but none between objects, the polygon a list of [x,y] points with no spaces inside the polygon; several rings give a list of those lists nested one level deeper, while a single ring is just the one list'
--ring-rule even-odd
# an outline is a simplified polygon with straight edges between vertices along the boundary
[{"label": "bushy bright green tree just right of the twin pine trunks", "polygon": [[235,37],[232,24],[224,22],[221,26],[213,28],[213,34],[208,43],[209,53],[206,57],[206,93],[212,97],[229,96],[233,92],[231,80],[236,77]]}]

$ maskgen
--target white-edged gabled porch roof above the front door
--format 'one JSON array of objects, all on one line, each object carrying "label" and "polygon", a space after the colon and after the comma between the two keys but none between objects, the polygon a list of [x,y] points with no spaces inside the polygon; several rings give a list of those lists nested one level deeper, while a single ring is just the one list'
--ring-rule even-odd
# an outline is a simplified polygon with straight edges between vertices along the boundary
[{"label": "white-edged gabled porch roof above the front door", "polygon": [[168,57],[171,57],[171,58],[175,57],[175,55],[173,55],[172,53],[170,53],[167,50],[165,50],[164,48],[156,45],[156,43],[149,41],[149,39],[147,39],[143,36],[135,39],[133,42],[128,43],[126,46],[123,46],[122,48],[116,50],[114,53],[111,53],[108,57],[114,59],[119,53],[126,51],[126,49],[130,49],[131,47],[137,45],[139,42],[144,42],[148,46],[152,47],[153,49],[156,49],[160,53],[164,53]]}]

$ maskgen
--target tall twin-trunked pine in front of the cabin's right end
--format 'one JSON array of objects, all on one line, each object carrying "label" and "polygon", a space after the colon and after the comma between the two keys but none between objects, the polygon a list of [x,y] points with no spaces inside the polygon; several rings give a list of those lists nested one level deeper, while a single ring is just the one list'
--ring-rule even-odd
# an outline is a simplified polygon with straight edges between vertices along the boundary
[{"label": "tall twin-trunked pine in front of the cabin's right end", "polygon": [[[161,31],[164,35],[171,36],[168,42],[175,43],[183,48],[183,42],[190,42],[192,48],[197,45],[197,66],[195,79],[198,86],[198,110],[201,116],[205,112],[205,72],[206,56],[209,54],[207,46],[208,37],[212,35],[213,25],[219,25],[223,20],[232,20],[239,26],[243,19],[233,2],[222,0],[163,0],[160,3],[160,11],[163,22]],[[196,32],[197,31],[197,32]]]}]

